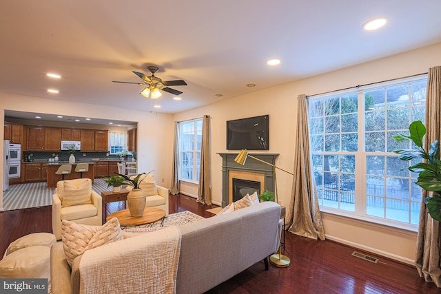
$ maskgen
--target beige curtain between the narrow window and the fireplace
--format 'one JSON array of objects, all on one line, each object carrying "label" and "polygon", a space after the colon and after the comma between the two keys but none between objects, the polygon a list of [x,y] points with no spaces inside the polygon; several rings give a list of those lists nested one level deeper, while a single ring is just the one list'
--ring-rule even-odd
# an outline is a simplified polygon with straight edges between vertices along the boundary
[{"label": "beige curtain between the narrow window and the fireplace", "polygon": [[211,205],[211,176],[209,170],[210,154],[210,118],[204,116],[202,120],[202,142],[201,142],[201,169],[199,175],[198,200],[203,204]]}]

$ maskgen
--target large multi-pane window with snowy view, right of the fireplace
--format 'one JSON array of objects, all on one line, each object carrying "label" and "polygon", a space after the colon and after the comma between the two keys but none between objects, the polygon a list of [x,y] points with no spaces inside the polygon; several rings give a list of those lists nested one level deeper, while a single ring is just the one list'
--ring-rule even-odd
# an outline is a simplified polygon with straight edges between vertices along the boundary
[{"label": "large multi-pane window with snowy view, right of the fireplace", "polygon": [[411,148],[394,134],[424,122],[427,78],[309,98],[312,165],[320,208],[387,224],[415,227],[418,174],[398,159]]}]

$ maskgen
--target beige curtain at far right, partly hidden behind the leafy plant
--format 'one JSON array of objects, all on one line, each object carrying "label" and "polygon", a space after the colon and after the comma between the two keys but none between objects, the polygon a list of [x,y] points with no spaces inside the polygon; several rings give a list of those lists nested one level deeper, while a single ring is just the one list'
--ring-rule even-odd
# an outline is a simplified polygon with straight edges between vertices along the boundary
[{"label": "beige curtain at far right, partly hidden behind the leafy plant", "polygon": [[[426,96],[427,135],[424,146],[429,147],[434,140],[441,142],[441,66],[429,68]],[[429,215],[424,204],[427,196],[429,192],[423,190],[415,263],[420,277],[441,287],[440,222]]]}]

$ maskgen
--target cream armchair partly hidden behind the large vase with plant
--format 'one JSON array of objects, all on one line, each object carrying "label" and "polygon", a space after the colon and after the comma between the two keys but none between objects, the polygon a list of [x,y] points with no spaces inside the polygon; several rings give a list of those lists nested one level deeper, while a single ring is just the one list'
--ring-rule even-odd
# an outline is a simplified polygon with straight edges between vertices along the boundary
[{"label": "cream armchair partly hidden behind the large vase with plant", "polygon": [[[131,176],[134,179],[136,176]],[[142,181],[141,181],[142,180]],[[156,185],[154,176],[152,174],[143,175],[139,178],[139,187],[143,189],[145,195],[145,207],[155,207],[165,211],[165,216],[168,216],[168,189]],[[131,190],[132,186],[127,186],[127,190]]]}]

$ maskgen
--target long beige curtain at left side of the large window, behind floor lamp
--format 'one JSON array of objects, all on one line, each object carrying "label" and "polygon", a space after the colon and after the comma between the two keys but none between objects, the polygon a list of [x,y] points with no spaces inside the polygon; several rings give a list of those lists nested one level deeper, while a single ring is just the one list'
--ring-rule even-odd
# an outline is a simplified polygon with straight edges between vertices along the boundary
[{"label": "long beige curtain at left side of the large window, behind floor lamp", "polygon": [[318,207],[316,184],[309,153],[308,111],[305,94],[298,96],[297,143],[294,148],[294,180],[287,213],[288,231],[303,237],[325,240]]}]

